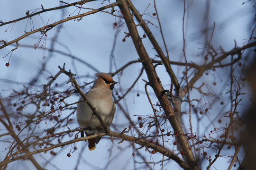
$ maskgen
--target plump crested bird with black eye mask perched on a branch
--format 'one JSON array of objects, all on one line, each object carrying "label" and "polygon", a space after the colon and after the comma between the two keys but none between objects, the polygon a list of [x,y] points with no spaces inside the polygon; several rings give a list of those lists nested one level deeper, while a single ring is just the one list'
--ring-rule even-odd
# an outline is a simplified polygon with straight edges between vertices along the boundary
[{"label": "plump crested bird with black eye mask perched on a branch", "polygon": [[[105,125],[109,128],[116,112],[116,105],[112,98],[112,90],[118,82],[115,82],[108,73],[96,73],[95,76],[97,78],[93,83],[91,90],[86,92],[85,96],[101,116]],[[83,132],[85,132],[86,136],[104,133],[105,129],[102,128],[99,119],[95,115],[92,115],[93,111],[86,101],[82,101],[84,101],[84,99],[80,97],[79,103],[77,103],[76,119],[80,128],[87,129],[81,131],[81,137],[84,136]],[[89,139],[89,150],[94,150],[96,144],[98,144],[100,140],[101,137]]]}]

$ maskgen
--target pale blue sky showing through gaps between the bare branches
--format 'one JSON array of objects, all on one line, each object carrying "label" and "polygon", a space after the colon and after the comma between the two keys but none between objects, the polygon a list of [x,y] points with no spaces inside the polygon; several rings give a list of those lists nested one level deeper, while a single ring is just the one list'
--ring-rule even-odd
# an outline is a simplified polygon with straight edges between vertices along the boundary
[{"label": "pale blue sky showing through gaps between the bare branches", "polygon": [[[71,3],[73,1],[66,1],[67,3]],[[113,3],[113,0],[110,0],[110,3]],[[201,43],[205,42],[203,36],[203,29],[207,30],[207,33],[210,33],[213,30],[213,25],[215,22],[214,33],[212,37],[213,47],[219,49],[221,46],[225,51],[229,51],[235,47],[236,40],[238,46],[243,46],[245,39],[250,37],[250,28],[248,28],[250,22],[252,21],[255,15],[255,8],[253,8],[253,4],[251,2],[242,5],[243,1],[234,1],[234,0],[214,0],[210,1],[209,9],[206,8],[205,1],[188,1],[186,2],[186,18],[185,18],[185,39],[186,39],[186,54],[188,56],[189,61],[193,61],[196,63],[203,64],[202,58],[197,57],[203,51],[203,45]],[[158,26],[158,22],[155,18],[148,16],[151,15],[154,10],[154,1],[133,1],[135,7],[138,8],[140,13],[145,11],[144,19],[149,20],[154,25],[148,24],[152,33],[154,34],[156,40],[160,44],[161,47],[164,48],[164,44],[161,38],[160,29]],[[53,8],[56,6],[63,5],[56,1],[35,1],[35,0],[26,0],[26,1],[9,1],[2,0],[0,7],[0,20],[3,22],[13,20],[19,17],[23,17],[26,15],[27,10],[33,10],[37,8],[41,8],[41,4],[43,4],[44,8]],[[105,1],[101,4],[101,1],[95,1],[86,3],[83,5],[85,8],[99,8],[104,5],[109,4],[108,1]],[[150,5],[149,5],[150,4]],[[148,7],[149,5],[149,7]],[[156,0],[156,6],[159,13],[160,22],[162,24],[163,33],[165,35],[165,41],[167,44],[167,49],[169,51],[170,59],[172,61],[184,61],[183,58],[183,35],[182,35],[182,23],[183,23],[183,3],[178,0]],[[188,7],[189,6],[189,7]],[[148,7],[148,8],[147,8]],[[147,8],[147,9],[146,9]],[[116,7],[117,9],[117,7]],[[111,9],[107,9],[106,11],[110,11]],[[210,10],[208,20],[204,19],[205,11]],[[86,12],[88,9],[82,9],[80,13]],[[69,15],[77,15],[78,10],[75,7],[67,8],[64,11],[56,10],[48,13],[41,14],[39,16],[33,17],[33,26],[35,29],[46,25],[48,22],[54,23],[60,19],[68,17]],[[118,14],[118,12],[116,12]],[[49,19],[49,20],[48,20]],[[43,20],[43,21],[42,21]],[[115,21],[116,20],[116,21]],[[65,63],[65,68],[71,69],[73,73],[75,73],[80,78],[78,79],[80,85],[83,82],[89,82],[93,78],[91,77],[95,70],[89,68],[81,61],[76,59],[71,59],[65,55],[62,55],[60,52],[64,52],[65,54],[72,55],[78,59],[82,59],[87,63],[90,63],[93,67],[101,72],[111,72],[115,71],[113,63],[110,64],[110,53],[113,47],[115,34],[119,31],[117,35],[116,46],[114,50],[114,58],[115,64],[117,68],[122,67],[130,60],[137,60],[137,52],[133,46],[133,43],[130,38],[126,38],[125,42],[122,42],[122,39],[125,37],[124,32],[128,32],[126,27],[122,29],[114,29],[113,24],[117,22],[119,25],[123,22],[118,17],[113,17],[110,14],[106,14],[103,12],[99,12],[94,15],[90,15],[87,17],[83,17],[81,21],[68,21],[62,24],[62,27],[56,26],[55,30],[50,30],[47,32],[47,40],[46,40],[46,50],[42,48],[34,49],[34,44],[40,38],[40,34],[36,33],[26,37],[25,39],[19,41],[19,47],[15,50],[10,58],[10,66],[5,67],[5,63],[8,62],[9,56],[4,59],[0,59],[0,86],[1,86],[1,95],[6,97],[11,93],[12,89],[20,89],[20,84],[10,83],[10,81],[15,82],[28,82],[37,75],[37,71],[40,68],[40,64],[48,59],[46,70],[43,75],[40,77],[40,80],[37,82],[37,85],[46,84],[47,77],[51,74],[56,74],[59,70],[58,66],[63,66]],[[15,23],[14,25],[6,25],[0,27],[0,39],[5,40],[7,42],[21,36],[24,34],[24,30],[26,27],[27,19],[22,20],[20,22]],[[8,28],[9,26],[9,28]],[[156,27],[157,26],[157,27]],[[121,26],[120,26],[121,27]],[[119,28],[120,28],[119,27]],[[30,29],[30,20],[28,20],[26,30]],[[6,31],[6,32],[5,32]],[[58,32],[60,31],[60,33]],[[141,36],[144,34],[144,31],[138,27],[139,34]],[[54,49],[57,50],[55,52],[50,52],[48,49],[51,48],[51,39],[57,36],[57,43],[55,44]],[[209,37],[210,38],[210,37]],[[155,50],[150,44],[147,38],[143,39],[143,43],[146,47],[146,50],[151,58],[155,57]],[[42,44],[42,42],[41,42]],[[41,46],[40,44],[40,46]],[[26,46],[26,47],[25,47]],[[1,57],[8,54],[8,52],[15,48],[15,46],[8,46],[4,49],[0,50]],[[227,60],[228,62],[229,60]],[[112,68],[110,68],[112,66]],[[142,68],[141,64],[133,64],[132,66],[125,69],[122,75],[115,76],[114,79],[119,81],[119,84],[115,86],[116,89],[121,89],[122,91],[126,91],[133,81],[137,78],[137,75]],[[173,66],[174,72],[177,77],[182,76],[182,72],[184,68]],[[164,87],[169,88],[170,80],[165,73],[164,67],[157,67],[157,72],[162,81]],[[221,77],[223,73],[220,73]],[[204,77],[207,80],[207,77]],[[209,82],[211,81],[220,81],[221,78],[208,77]],[[125,101],[122,101],[120,104],[127,110],[129,115],[137,121],[137,117],[133,117],[132,115],[145,115],[152,114],[152,109],[148,103],[146,95],[144,93],[144,82],[142,79],[147,80],[146,73],[144,72],[138,84],[133,88],[132,93],[128,94],[125,98]],[[59,83],[64,83],[67,80],[67,77],[62,76],[57,81]],[[200,85],[199,82],[196,85]],[[89,86],[86,88],[89,89]],[[212,86],[213,91],[218,91],[219,86]],[[156,102],[156,98],[153,95],[151,89],[150,94],[152,101]],[[226,89],[225,89],[226,90]],[[140,93],[140,96],[137,97],[137,93]],[[197,94],[195,94],[197,96]],[[74,95],[69,99],[68,102],[75,102],[79,98],[78,95]],[[74,115],[75,119],[75,115]],[[184,122],[187,121],[187,117],[184,116]],[[116,117],[113,123],[119,127],[128,127],[128,120],[124,118],[124,115],[121,113],[119,109],[117,109]],[[50,124],[51,125],[51,124]],[[48,126],[50,126],[48,125]],[[46,125],[47,127],[47,125]],[[70,128],[76,128],[78,124],[74,121],[70,124]],[[204,128],[204,125],[202,125]],[[66,130],[66,128],[64,128]],[[120,130],[121,131],[121,130]],[[133,159],[132,159],[132,150],[128,148],[129,143],[122,143],[121,148],[123,148],[122,152],[116,150],[115,148],[110,148],[111,142],[108,137],[104,137],[105,139],[101,140],[101,142],[97,145],[95,151],[89,152],[87,148],[84,149],[82,153],[82,158],[79,158],[79,151],[72,153],[72,156],[68,158],[66,153],[69,152],[71,146],[65,146],[64,148],[56,149],[58,152],[58,157],[53,157],[48,153],[36,155],[36,159],[40,160],[39,162],[45,162],[46,160],[51,160],[53,165],[47,164],[48,169],[52,169],[57,166],[57,169],[73,169],[74,164],[77,159],[82,159],[80,166],[78,169],[102,169],[106,167],[106,164],[109,159],[111,159],[111,163],[107,166],[108,169],[126,169],[132,170],[134,169]],[[70,140],[65,138],[65,140]],[[115,140],[114,143],[118,143],[119,140]],[[85,143],[79,142],[77,143],[77,147],[80,149],[84,146]],[[111,145],[112,146],[112,145]],[[117,146],[117,145],[114,145]],[[137,146],[138,147],[138,146]],[[2,149],[3,150],[3,149]],[[110,158],[108,157],[108,152],[112,151],[112,155]],[[119,153],[120,152],[120,153]],[[143,153],[143,152],[141,152]],[[143,153],[150,160],[150,154],[145,152]],[[118,156],[116,156],[118,155]],[[161,160],[161,155],[155,156],[153,161]],[[4,154],[0,155],[0,159],[4,158]],[[45,160],[46,159],[46,160]],[[220,159],[222,161],[216,162],[215,168],[219,169],[225,166],[228,166],[228,159]],[[95,168],[90,164],[98,167]],[[152,161],[152,160],[151,160]],[[29,162],[22,162],[25,169],[33,170],[34,167]],[[8,169],[12,166],[16,166],[15,163],[9,165]],[[169,166],[172,168],[177,168],[178,166],[175,163],[168,163],[164,169],[168,169]],[[139,165],[136,165],[139,168]],[[160,166],[156,166],[155,169],[160,169]]]}]

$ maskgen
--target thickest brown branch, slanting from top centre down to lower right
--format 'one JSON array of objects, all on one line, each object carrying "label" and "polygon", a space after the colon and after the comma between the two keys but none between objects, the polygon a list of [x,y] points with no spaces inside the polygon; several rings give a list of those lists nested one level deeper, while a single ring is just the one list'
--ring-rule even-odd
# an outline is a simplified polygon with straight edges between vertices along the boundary
[{"label": "thickest brown branch, slanting from top centre down to lower right", "polygon": [[[129,34],[131,35],[138,56],[143,64],[143,67],[145,68],[149,80],[149,85],[153,88],[157,99],[161,103],[162,108],[165,110],[165,114],[168,117],[168,120],[170,121],[174,131],[177,132],[178,134],[184,134],[181,124],[179,124],[177,119],[174,117],[174,110],[171,103],[169,102],[167,95],[163,93],[164,88],[161,84],[159,77],[157,76],[154,65],[151,59],[149,58],[146,49],[141,41],[133,17],[128,9],[127,3],[125,2],[125,0],[117,1],[119,2],[119,8],[123,13],[125,22],[129,30]],[[187,163],[191,166],[191,168],[198,169],[194,155],[191,151],[191,147],[187,143],[185,136],[178,135],[177,139],[178,142],[182,145],[182,150],[185,153]]]}]

